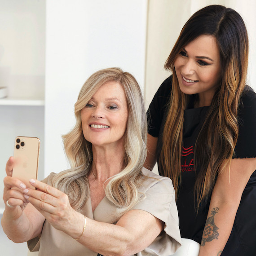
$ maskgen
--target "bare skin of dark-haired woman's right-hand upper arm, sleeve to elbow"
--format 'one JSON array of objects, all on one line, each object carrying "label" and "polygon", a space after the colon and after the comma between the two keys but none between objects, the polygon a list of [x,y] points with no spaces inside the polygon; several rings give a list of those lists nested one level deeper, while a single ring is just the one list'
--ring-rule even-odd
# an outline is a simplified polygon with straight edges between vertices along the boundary
[{"label": "bare skin of dark-haired woman's right-hand upper arm, sleeve to elbow", "polygon": [[256,158],[231,159],[230,165],[217,177],[212,197],[239,205],[243,190],[256,170]]}]

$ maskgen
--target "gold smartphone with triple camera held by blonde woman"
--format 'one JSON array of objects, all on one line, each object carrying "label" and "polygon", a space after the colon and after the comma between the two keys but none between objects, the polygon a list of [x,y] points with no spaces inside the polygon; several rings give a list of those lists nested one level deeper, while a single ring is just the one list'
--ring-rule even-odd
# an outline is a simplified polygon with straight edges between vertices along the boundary
[{"label": "gold smartphone with triple camera held by blonde woman", "polygon": [[35,187],[29,183],[29,180],[37,179],[39,149],[39,138],[22,136],[15,138],[13,177],[18,178],[32,189]]}]

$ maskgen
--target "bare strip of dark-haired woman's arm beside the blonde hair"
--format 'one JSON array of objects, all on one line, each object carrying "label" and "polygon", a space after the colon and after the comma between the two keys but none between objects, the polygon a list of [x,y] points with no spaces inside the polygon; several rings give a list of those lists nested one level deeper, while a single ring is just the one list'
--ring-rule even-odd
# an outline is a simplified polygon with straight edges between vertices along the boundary
[{"label": "bare strip of dark-haired woman's arm beside the blonde hair", "polygon": [[156,146],[157,146],[158,137],[153,137],[148,133],[147,138],[147,157],[145,161],[145,168],[152,171],[156,163]]}]

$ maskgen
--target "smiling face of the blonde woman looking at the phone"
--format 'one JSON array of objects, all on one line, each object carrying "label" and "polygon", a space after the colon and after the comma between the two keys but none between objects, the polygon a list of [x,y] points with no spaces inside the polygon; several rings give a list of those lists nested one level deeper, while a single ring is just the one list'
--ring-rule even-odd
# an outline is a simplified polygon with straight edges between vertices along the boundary
[{"label": "smiling face of the blonde woman looking at the phone", "polygon": [[106,82],[81,110],[84,138],[93,146],[123,149],[128,120],[128,106],[123,87]]}]

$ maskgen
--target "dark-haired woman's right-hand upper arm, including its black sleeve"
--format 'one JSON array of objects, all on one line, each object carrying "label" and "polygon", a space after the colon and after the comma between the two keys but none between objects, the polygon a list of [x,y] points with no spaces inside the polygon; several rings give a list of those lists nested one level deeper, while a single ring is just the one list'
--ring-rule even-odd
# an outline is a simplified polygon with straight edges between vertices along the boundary
[{"label": "dark-haired woman's right-hand upper arm, including its black sleeve", "polygon": [[239,203],[243,190],[256,170],[256,94],[244,91],[238,111],[239,136],[231,159],[216,180],[212,197]]}]

